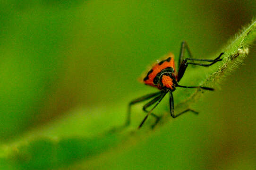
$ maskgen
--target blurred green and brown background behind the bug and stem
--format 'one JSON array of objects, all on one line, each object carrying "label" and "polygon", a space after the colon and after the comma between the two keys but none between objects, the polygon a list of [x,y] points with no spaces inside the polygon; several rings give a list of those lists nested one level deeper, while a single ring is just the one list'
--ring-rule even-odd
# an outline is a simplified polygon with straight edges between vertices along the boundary
[{"label": "blurred green and brown background behind the bug and stem", "polygon": [[[124,118],[129,100],[155,91],[137,82],[152,61],[170,51],[177,59],[183,40],[197,58],[215,54],[255,9],[253,0],[0,0],[0,144],[34,129],[51,131],[79,108],[88,119],[117,119],[105,108],[118,105]],[[79,153],[69,168],[255,170],[255,47],[221,89],[193,106],[197,117],[183,116],[89,161]],[[87,126],[83,119],[73,124]],[[32,168],[21,164],[40,169],[37,161]]]}]

